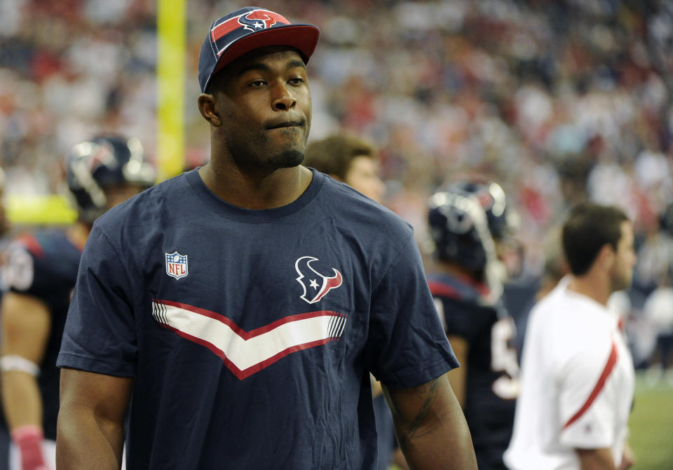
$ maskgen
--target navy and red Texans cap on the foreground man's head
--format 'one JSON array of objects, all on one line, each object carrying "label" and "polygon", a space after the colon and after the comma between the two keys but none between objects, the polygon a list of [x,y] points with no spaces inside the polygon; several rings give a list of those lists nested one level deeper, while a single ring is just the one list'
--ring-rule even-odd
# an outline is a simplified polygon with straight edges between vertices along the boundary
[{"label": "navy and red Texans cap on the foreground man's head", "polygon": [[258,6],[245,6],[215,20],[208,29],[198,56],[201,91],[225,65],[264,46],[290,46],[304,63],[318,45],[320,29],[315,25],[292,24],[285,17]]}]

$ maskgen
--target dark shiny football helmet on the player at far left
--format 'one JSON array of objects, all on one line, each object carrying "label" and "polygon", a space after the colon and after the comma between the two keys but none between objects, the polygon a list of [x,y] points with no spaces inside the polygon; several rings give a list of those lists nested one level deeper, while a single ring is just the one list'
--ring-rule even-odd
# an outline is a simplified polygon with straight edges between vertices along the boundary
[{"label": "dark shiny football helmet on the player at far left", "polygon": [[136,137],[100,135],[80,142],[67,154],[65,167],[68,189],[83,222],[93,222],[107,210],[108,187],[135,184],[144,189],[156,178]]}]

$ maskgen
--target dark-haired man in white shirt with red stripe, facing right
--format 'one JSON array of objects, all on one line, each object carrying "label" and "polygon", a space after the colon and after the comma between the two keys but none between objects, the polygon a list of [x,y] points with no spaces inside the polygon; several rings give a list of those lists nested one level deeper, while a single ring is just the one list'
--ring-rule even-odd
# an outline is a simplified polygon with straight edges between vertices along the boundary
[{"label": "dark-haired man in white shirt with red stripe, facing right", "polygon": [[512,470],[624,470],[633,464],[634,369],[606,304],[631,283],[632,224],[619,208],[584,203],[571,211],[562,241],[571,275],[531,311],[505,463]]}]

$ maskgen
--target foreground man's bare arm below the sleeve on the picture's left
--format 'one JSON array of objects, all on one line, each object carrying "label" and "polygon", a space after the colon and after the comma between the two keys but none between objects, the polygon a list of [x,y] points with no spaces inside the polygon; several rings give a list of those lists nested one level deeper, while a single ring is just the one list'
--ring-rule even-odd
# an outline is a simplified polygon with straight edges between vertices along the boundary
[{"label": "foreground man's bare arm below the sleeve on the picture's left", "polygon": [[118,470],[133,379],[62,368],[56,437],[59,470]]}]

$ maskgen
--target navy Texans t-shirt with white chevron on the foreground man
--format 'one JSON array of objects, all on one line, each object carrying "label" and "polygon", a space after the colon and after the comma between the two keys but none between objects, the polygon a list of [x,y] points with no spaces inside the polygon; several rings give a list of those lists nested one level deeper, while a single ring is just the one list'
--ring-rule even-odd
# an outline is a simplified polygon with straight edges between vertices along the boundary
[{"label": "navy Texans t-shirt with white chevron on the foreground man", "polygon": [[95,223],[58,365],[135,377],[128,470],[334,470],[376,468],[369,371],[457,363],[399,217],[315,171],[237,208],[193,170]]}]

